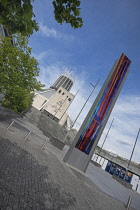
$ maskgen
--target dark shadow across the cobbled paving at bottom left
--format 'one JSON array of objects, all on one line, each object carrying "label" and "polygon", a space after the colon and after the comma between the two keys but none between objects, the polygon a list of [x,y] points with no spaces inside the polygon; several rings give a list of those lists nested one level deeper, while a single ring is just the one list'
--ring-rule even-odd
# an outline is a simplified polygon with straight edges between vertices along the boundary
[{"label": "dark shadow across the cobbled paving at bottom left", "polygon": [[49,180],[51,173],[28,151],[0,138],[0,209],[58,210],[76,199]]}]

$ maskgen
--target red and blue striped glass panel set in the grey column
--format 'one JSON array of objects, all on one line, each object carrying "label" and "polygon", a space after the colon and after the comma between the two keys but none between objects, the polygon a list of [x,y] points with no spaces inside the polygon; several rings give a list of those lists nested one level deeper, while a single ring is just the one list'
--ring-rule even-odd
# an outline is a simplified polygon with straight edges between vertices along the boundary
[{"label": "red and blue striped glass panel set in the grey column", "polygon": [[97,138],[98,132],[110,109],[113,98],[116,96],[130,63],[131,61],[124,54],[122,54],[110,81],[106,85],[106,88],[104,89],[97,106],[93,110],[92,115],[89,118],[89,121],[75,146],[82,152],[86,154],[90,153],[94,141]]}]

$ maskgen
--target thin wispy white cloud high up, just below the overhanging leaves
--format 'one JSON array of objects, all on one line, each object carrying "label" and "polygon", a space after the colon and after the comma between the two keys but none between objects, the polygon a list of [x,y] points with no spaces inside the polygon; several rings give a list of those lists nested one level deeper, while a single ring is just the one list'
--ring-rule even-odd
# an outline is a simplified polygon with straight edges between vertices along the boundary
[{"label": "thin wispy white cloud high up, just below the overhanging leaves", "polygon": [[72,35],[63,34],[59,31],[57,31],[54,28],[49,28],[46,25],[43,25],[42,23],[39,23],[39,32],[45,36],[45,37],[53,37],[57,39],[64,39],[64,40],[73,40],[74,37]]}]

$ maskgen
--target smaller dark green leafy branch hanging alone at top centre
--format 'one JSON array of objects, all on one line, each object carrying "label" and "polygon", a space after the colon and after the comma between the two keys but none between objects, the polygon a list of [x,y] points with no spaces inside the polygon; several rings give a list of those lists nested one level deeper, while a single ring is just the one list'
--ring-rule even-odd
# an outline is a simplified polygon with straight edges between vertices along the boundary
[{"label": "smaller dark green leafy branch hanging alone at top centre", "polygon": [[80,1],[55,0],[53,1],[55,19],[58,23],[70,23],[73,28],[82,27],[83,21],[80,15]]}]

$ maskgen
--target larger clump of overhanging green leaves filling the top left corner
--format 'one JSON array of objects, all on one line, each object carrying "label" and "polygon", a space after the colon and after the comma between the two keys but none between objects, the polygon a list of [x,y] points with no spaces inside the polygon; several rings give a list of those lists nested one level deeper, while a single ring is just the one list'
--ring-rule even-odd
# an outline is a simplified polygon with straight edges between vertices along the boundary
[{"label": "larger clump of overhanging green leaves filling the top left corner", "polygon": [[34,17],[31,0],[0,0],[0,24],[11,34],[30,35],[38,31]]}]

